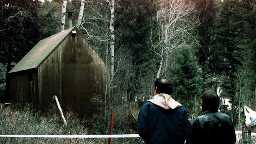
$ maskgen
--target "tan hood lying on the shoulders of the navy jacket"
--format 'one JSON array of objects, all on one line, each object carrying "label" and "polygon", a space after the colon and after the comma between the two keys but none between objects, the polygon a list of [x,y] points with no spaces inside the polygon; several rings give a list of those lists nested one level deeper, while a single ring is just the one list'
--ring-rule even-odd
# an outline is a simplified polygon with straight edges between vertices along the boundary
[{"label": "tan hood lying on the shoulders of the navy jacket", "polygon": [[180,103],[173,100],[169,94],[156,94],[154,98],[148,101],[162,107],[163,109],[175,109],[182,106]]}]

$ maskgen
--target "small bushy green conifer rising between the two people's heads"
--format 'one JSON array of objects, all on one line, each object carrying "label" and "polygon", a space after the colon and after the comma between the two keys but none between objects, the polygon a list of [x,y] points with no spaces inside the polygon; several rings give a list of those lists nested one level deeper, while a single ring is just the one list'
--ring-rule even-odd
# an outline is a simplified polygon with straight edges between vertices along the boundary
[{"label": "small bushy green conifer rising between the two people's heads", "polygon": [[192,119],[200,112],[200,97],[204,87],[201,76],[201,68],[191,49],[179,50],[175,54],[174,66],[171,68],[173,97],[186,107]]}]

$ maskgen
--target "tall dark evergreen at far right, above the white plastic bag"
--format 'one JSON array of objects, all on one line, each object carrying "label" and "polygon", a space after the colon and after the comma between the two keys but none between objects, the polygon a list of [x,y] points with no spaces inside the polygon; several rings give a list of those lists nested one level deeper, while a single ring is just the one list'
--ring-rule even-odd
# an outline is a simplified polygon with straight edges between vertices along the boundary
[{"label": "tall dark evergreen at far right, above the white plastic bag", "polygon": [[[231,114],[236,121],[240,118],[240,110],[236,113],[235,107],[241,109],[253,98],[255,86],[255,80],[247,79],[255,77],[255,1],[215,1],[212,4],[213,9],[207,11],[207,15],[212,16],[208,17],[212,24],[207,31],[198,30],[203,40],[202,50],[207,56],[202,56],[202,51],[198,50],[198,61],[208,84],[206,87],[209,89],[219,83],[224,96],[232,99]],[[212,12],[214,14],[210,14]]]}]

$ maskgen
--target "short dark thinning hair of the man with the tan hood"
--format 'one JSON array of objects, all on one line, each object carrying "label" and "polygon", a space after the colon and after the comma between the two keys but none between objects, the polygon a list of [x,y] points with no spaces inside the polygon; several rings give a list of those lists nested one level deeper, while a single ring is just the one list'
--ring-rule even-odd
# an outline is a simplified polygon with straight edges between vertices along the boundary
[{"label": "short dark thinning hair of the man with the tan hood", "polygon": [[173,84],[169,79],[164,77],[155,80],[155,88],[157,88],[159,94],[171,94],[173,92]]}]

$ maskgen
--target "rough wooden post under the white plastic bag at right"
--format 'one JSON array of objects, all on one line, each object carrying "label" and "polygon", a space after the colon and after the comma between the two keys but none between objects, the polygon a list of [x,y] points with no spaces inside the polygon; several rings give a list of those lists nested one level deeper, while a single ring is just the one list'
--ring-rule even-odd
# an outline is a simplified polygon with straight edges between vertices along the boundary
[{"label": "rough wooden post under the white plastic bag at right", "polygon": [[[245,111],[242,109],[241,114],[244,114]],[[252,144],[252,134],[251,132],[247,129],[247,126],[245,124],[245,114],[243,118],[243,127],[242,127],[242,139],[239,141],[239,144]]]}]

